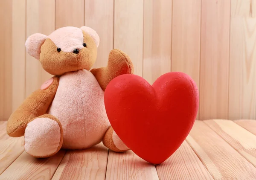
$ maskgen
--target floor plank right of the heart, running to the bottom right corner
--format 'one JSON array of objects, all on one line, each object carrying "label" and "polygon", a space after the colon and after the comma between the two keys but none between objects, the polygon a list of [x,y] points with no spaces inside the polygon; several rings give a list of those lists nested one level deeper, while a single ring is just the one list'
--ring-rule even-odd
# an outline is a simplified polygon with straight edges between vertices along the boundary
[{"label": "floor plank right of the heart, running to the bottom right corner", "polygon": [[214,179],[256,177],[256,168],[204,122],[196,121],[186,140]]}]

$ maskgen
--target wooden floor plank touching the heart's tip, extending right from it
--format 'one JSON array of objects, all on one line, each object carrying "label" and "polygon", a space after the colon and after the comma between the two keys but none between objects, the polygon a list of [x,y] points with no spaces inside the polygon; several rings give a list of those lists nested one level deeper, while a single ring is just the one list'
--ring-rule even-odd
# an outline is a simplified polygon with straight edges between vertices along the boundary
[{"label": "wooden floor plank touching the heart's tip, extending right from it", "polygon": [[213,180],[186,141],[156,168],[161,180]]}]

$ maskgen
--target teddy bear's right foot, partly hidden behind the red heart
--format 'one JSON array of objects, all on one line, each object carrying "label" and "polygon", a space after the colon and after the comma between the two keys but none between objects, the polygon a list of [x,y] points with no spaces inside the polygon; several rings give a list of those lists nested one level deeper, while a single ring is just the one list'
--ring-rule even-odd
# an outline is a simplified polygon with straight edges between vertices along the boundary
[{"label": "teddy bear's right foot, partly hidden behind the red heart", "polygon": [[115,152],[124,152],[129,150],[125,143],[123,143],[122,140],[117,136],[112,127],[108,128],[102,142],[107,148]]}]

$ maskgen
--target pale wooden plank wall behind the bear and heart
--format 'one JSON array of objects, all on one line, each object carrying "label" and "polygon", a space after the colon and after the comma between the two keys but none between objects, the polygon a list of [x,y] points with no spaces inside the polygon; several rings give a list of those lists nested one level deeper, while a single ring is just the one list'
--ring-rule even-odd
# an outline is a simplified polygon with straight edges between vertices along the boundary
[{"label": "pale wooden plank wall behind the bear and heart", "polygon": [[0,120],[52,76],[26,38],[84,25],[101,38],[94,67],[122,49],[151,84],[191,75],[198,119],[256,119],[256,0],[0,0]]}]

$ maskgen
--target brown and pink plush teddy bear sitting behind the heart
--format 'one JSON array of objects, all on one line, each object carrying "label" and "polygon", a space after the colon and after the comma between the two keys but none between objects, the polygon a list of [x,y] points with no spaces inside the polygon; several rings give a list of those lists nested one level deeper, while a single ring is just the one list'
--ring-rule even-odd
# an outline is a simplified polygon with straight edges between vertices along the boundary
[{"label": "brown and pink plush teddy bear sitting behind the heart", "polygon": [[12,113],[7,134],[24,136],[24,150],[37,158],[51,157],[61,148],[86,149],[100,142],[112,151],[128,151],[113,131],[104,104],[108,83],[134,71],[128,55],[113,49],[107,67],[91,69],[99,35],[87,26],[62,27],[49,36],[35,33],[25,46],[53,77]]}]

